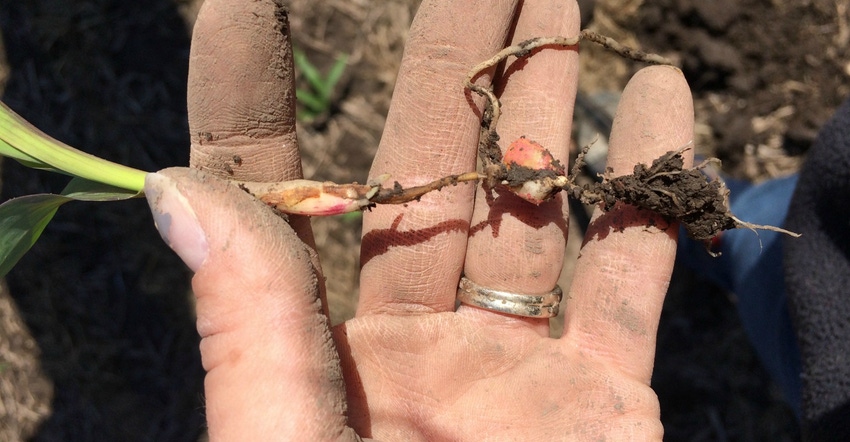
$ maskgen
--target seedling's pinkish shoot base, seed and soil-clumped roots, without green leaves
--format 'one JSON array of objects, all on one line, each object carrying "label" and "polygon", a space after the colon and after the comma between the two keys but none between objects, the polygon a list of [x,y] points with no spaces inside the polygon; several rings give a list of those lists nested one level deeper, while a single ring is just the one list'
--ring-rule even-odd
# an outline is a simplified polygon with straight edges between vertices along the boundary
[{"label": "seedling's pinkish shoot base, seed and soil-clumped roots, without green leaves", "polygon": [[[582,148],[569,173],[565,173],[560,163],[553,160],[551,153],[543,146],[525,138],[515,141],[508,155],[503,156],[496,130],[502,113],[501,103],[491,87],[475,84],[474,80],[481,72],[495,67],[510,56],[527,57],[544,47],[571,48],[581,40],[600,44],[631,60],[671,64],[664,57],[623,46],[589,30],[583,30],[575,37],[532,38],[509,46],[473,66],[464,79],[469,90],[485,98],[478,144],[482,172],[449,175],[408,188],[398,182],[385,187],[383,184],[389,178],[386,175],[366,185],[305,181],[298,182],[296,187],[287,183],[244,185],[262,201],[283,212],[315,215],[364,210],[376,204],[405,204],[418,201],[425,194],[446,186],[481,180],[485,190],[489,191],[496,186],[507,187],[534,204],[551,199],[561,190],[584,204],[598,204],[603,210],[611,210],[618,202],[630,204],[679,221],[691,238],[706,244],[721,231],[735,228],[770,230],[799,236],[779,227],[751,224],[735,217],[729,210],[729,190],[725,184],[717,178],[708,180],[701,172],[708,165],[719,163],[719,160],[709,158],[693,168],[684,168],[682,154],[692,147],[692,143],[667,152],[651,165],[636,165],[632,174],[614,177],[608,169],[602,174],[601,182],[583,185],[576,184],[576,177],[584,165],[585,155],[593,145],[592,142]],[[521,145],[515,150],[517,143]]]}]

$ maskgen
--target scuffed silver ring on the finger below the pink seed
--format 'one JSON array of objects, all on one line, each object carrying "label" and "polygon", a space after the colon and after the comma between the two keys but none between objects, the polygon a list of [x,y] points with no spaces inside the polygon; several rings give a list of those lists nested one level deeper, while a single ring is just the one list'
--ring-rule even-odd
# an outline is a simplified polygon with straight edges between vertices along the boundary
[{"label": "scuffed silver ring on the finger below the pink seed", "polygon": [[561,287],[539,295],[511,293],[493,290],[472,282],[466,276],[460,278],[457,300],[476,307],[528,318],[552,318],[558,316],[558,307],[563,296]]}]

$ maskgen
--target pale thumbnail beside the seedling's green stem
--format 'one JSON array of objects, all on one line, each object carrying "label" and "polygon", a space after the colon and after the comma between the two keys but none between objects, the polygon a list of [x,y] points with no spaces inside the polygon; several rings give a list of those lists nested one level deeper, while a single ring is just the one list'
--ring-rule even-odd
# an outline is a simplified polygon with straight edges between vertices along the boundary
[{"label": "pale thumbnail beside the seedling's green stem", "polygon": [[174,180],[158,173],[145,177],[145,196],[159,235],[192,271],[197,271],[209,255],[209,244],[189,201],[177,190]]}]

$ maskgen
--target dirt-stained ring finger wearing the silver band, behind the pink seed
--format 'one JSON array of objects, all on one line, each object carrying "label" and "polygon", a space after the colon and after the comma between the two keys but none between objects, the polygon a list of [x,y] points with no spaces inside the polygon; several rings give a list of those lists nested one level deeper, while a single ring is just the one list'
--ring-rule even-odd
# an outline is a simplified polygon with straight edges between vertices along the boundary
[{"label": "dirt-stained ring finger wearing the silver band, behind the pink seed", "polygon": [[[574,1],[526,0],[512,44],[578,32],[579,10]],[[503,114],[497,129],[502,149],[525,136],[549,149],[563,165],[569,164],[577,82],[578,47],[544,47],[530,57],[511,58],[499,80]],[[479,189],[464,273],[479,285],[497,290],[546,293],[558,281],[568,230],[567,204],[560,196],[536,206],[507,191],[488,194]],[[529,323],[548,336],[548,319]]]}]

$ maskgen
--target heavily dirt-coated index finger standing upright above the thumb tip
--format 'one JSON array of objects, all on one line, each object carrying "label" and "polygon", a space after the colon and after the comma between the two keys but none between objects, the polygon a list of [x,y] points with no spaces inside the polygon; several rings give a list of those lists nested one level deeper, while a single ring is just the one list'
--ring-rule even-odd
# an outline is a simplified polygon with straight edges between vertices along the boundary
[{"label": "heavily dirt-coated index finger standing upright above the thumb tip", "polygon": [[244,181],[301,177],[291,47],[279,2],[204,2],[189,62],[192,167]]}]

